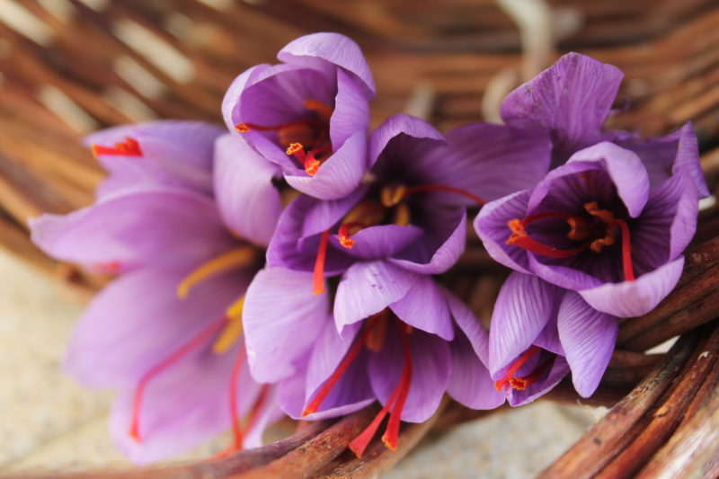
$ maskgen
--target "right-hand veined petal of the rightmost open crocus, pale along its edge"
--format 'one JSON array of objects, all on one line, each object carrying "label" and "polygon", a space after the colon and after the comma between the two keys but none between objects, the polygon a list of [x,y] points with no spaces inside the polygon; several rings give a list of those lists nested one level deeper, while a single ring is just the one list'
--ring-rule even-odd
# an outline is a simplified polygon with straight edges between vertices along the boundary
[{"label": "right-hand veined petal of the rightmost open crocus, pale along its edge", "polygon": [[651,271],[676,259],[697,230],[698,206],[696,187],[686,171],[652,189],[642,216],[632,226],[634,262]]}]

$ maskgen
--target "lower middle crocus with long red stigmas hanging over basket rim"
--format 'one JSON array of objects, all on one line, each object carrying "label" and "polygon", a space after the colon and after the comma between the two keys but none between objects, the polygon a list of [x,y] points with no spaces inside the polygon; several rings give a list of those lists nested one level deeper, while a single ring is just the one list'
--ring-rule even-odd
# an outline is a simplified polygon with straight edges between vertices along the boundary
[{"label": "lower middle crocus with long red stigmas hanging over basket rim", "polygon": [[[426,421],[445,392],[476,409],[504,401],[484,367],[484,329],[431,277],[415,274],[413,293],[344,326],[339,335],[327,313],[328,297],[301,288],[309,276],[261,271],[245,306],[253,377],[280,381],[280,405],[291,417],[319,420],[378,401],[382,410],[349,444],[361,456],[387,415],[382,440],[396,448],[400,421]],[[377,291],[396,288],[383,275],[374,281]],[[446,327],[435,333],[434,322]]]}]

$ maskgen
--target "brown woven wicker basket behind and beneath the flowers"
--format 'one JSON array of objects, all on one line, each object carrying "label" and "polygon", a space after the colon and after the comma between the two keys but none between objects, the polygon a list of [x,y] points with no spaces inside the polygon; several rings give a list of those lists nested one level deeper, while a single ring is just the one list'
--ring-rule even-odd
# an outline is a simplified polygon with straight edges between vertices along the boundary
[{"label": "brown woven wicker basket behind and beneath the flowers", "polygon": [[[482,120],[483,111],[491,118],[504,93],[556,54],[589,54],[626,74],[619,95],[626,102],[608,126],[641,125],[644,135],[658,135],[692,120],[717,193],[715,0],[2,1],[0,244],[88,297],[106,279],[50,260],[30,243],[26,226],[28,217],[93,200],[102,171],[79,138],[155,118],[219,123],[219,103],[235,75],[311,31],[358,41],[377,81],[374,125],[403,110],[439,129]],[[523,2],[543,8],[546,22],[522,23]],[[613,409],[541,477],[719,476],[717,234],[719,208],[707,208],[679,287],[651,314],[620,326],[618,349],[590,399]],[[471,243],[457,271],[455,290],[487,316],[493,298],[478,297],[475,285],[489,282],[496,290],[502,269]],[[644,354],[676,335],[670,353]],[[575,395],[562,384],[548,398]],[[362,459],[344,448],[371,410],[216,461],[97,475],[367,477],[395,464],[433,428],[483,414],[445,401],[430,421],[404,425],[398,450],[375,444]]]}]

